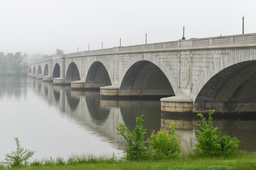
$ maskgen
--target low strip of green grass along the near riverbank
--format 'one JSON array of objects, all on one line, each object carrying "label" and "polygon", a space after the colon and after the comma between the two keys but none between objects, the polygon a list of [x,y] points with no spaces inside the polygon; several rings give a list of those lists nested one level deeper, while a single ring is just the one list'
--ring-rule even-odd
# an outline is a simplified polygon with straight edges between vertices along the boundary
[{"label": "low strip of green grass along the near riverbank", "polygon": [[66,161],[63,158],[35,160],[29,166],[10,169],[256,169],[256,153],[238,151],[231,157],[201,157],[191,153],[175,159],[150,161],[128,161],[114,156],[73,156]]}]

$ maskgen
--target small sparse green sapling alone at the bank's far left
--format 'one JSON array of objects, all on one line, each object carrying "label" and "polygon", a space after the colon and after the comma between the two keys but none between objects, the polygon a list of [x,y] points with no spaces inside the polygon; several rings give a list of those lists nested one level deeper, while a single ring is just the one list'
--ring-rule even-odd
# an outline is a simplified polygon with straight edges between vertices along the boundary
[{"label": "small sparse green sapling alone at the bank's far left", "polygon": [[35,152],[21,147],[18,137],[14,137],[14,140],[16,142],[16,151],[5,155],[4,160],[6,162],[4,162],[4,164],[11,167],[27,165],[28,159],[32,157]]}]

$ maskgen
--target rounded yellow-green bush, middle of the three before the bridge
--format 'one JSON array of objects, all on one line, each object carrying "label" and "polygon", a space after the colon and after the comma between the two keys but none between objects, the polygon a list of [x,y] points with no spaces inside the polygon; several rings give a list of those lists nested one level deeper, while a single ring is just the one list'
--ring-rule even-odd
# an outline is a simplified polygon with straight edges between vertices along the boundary
[{"label": "rounded yellow-green bush, middle of the three before the bridge", "polygon": [[179,144],[179,134],[176,133],[176,124],[171,123],[171,133],[168,130],[152,132],[151,140],[148,140],[149,148],[154,151],[154,155],[163,154],[166,157],[175,158],[181,154],[181,144]]}]

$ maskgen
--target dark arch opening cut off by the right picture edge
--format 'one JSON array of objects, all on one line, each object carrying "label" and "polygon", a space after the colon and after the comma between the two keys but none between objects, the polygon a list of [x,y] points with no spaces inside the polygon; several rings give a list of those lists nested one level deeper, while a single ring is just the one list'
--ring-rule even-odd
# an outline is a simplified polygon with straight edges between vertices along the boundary
[{"label": "dark arch opening cut off by the right picture edge", "polygon": [[256,61],[234,64],[215,74],[199,92],[195,111],[255,112]]}]

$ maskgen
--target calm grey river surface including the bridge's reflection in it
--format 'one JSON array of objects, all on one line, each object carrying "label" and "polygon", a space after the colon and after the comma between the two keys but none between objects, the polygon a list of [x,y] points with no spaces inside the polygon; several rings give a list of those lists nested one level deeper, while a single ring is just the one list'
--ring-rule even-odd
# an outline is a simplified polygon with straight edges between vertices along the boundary
[{"label": "calm grey river surface including the bridge's reflection in it", "polygon": [[[114,127],[125,123],[129,130],[144,115],[146,137],[176,122],[181,144],[195,143],[193,117],[161,115],[159,101],[106,101],[99,92],[70,91],[41,80],[0,77],[0,161],[16,148],[14,137],[25,148],[35,150],[34,159],[68,158],[73,154],[122,155],[123,139]],[[241,140],[240,148],[256,151],[256,120],[218,119],[224,134]]]}]

